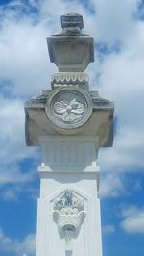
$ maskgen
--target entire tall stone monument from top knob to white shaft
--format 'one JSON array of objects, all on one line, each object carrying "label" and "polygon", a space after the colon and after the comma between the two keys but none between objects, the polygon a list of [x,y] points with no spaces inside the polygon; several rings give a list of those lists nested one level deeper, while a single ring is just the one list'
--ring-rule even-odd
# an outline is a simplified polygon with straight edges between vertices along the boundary
[{"label": "entire tall stone monument from top knob to white shaft", "polygon": [[82,15],[61,16],[47,38],[59,72],[52,90],[25,103],[26,143],[40,146],[36,256],[102,256],[98,150],[112,146],[113,103],[89,90],[93,38]]}]

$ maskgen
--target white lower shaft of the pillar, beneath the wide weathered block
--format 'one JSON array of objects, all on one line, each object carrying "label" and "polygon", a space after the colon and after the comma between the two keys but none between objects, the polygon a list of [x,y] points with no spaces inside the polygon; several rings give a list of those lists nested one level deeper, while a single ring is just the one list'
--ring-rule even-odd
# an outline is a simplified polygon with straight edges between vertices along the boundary
[{"label": "white lower shaft of the pillar, beneath the wide weathered block", "polygon": [[[39,167],[36,256],[58,256],[58,253],[102,256],[99,167],[96,166],[94,138],[43,136],[39,141],[42,164]],[[74,201],[69,206],[64,205],[67,191],[72,192]],[[57,209],[58,202],[63,205]],[[66,225],[74,228],[67,246]]]}]

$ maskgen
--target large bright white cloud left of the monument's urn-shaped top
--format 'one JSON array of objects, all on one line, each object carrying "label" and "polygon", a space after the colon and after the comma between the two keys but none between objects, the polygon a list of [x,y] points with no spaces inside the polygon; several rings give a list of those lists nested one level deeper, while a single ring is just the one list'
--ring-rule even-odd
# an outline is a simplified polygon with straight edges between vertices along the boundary
[{"label": "large bright white cloud left of the monument's urn-shaped top", "polygon": [[44,25],[27,20],[10,22],[1,32],[1,83],[12,83],[12,95],[29,97],[49,87],[53,64],[48,66],[47,33]]}]

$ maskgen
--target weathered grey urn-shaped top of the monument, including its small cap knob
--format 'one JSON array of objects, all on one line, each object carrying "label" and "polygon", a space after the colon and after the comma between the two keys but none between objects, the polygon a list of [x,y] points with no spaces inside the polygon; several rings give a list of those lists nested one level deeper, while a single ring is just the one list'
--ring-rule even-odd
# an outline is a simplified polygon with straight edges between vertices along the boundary
[{"label": "weathered grey urn-shaped top of the monument, including its small cap knob", "polygon": [[[81,33],[81,15],[62,16],[63,31],[47,38],[50,61],[60,72],[83,72],[94,62],[93,38]],[[64,20],[67,21],[64,21]]]}]

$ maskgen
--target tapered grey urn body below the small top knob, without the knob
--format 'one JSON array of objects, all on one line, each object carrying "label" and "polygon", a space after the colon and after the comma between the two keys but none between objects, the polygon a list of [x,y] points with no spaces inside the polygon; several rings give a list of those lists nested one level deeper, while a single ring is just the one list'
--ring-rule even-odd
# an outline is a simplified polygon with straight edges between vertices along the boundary
[{"label": "tapered grey urn body below the small top knob, without the knob", "polygon": [[88,36],[52,36],[47,38],[51,63],[60,72],[83,72],[94,61],[93,38]]}]

